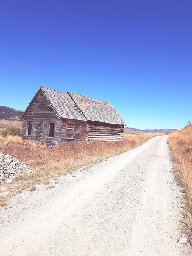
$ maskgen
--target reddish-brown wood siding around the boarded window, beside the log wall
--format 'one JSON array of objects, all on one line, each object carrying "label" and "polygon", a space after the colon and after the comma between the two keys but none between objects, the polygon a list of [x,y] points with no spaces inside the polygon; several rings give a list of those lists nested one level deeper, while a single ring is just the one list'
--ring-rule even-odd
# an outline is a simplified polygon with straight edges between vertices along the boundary
[{"label": "reddish-brown wood siding around the boarded window, beside the log wall", "polygon": [[[66,126],[67,124],[74,125],[74,135],[73,139],[66,138]],[[61,121],[61,130],[60,130],[60,143],[77,143],[77,142],[86,142],[86,130],[87,124],[78,121]]]}]

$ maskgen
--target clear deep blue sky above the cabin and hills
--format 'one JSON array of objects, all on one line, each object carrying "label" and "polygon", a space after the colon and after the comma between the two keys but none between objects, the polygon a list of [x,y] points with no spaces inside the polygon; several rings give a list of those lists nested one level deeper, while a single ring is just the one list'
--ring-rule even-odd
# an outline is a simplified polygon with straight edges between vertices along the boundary
[{"label": "clear deep blue sky above the cabin and hills", "polygon": [[0,2],[0,105],[40,86],[109,101],[135,128],[192,120],[191,0]]}]

